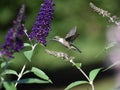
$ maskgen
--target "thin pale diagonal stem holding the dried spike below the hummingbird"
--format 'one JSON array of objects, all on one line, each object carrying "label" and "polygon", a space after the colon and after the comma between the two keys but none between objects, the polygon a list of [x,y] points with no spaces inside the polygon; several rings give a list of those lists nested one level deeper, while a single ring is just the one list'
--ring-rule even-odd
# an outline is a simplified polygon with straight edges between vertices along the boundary
[{"label": "thin pale diagonal stem holding the dried spike below the hummingbird", "polygon": [[89,84],[91,85],[92,90],[95,90],[94,85],[93,85],[93,81],[91,81],[89,79],[87,74],[80,67],[76,66],[76,64],[73,60],[70,60],[70,62],[86,77],[86,79],[89,81]]}]

